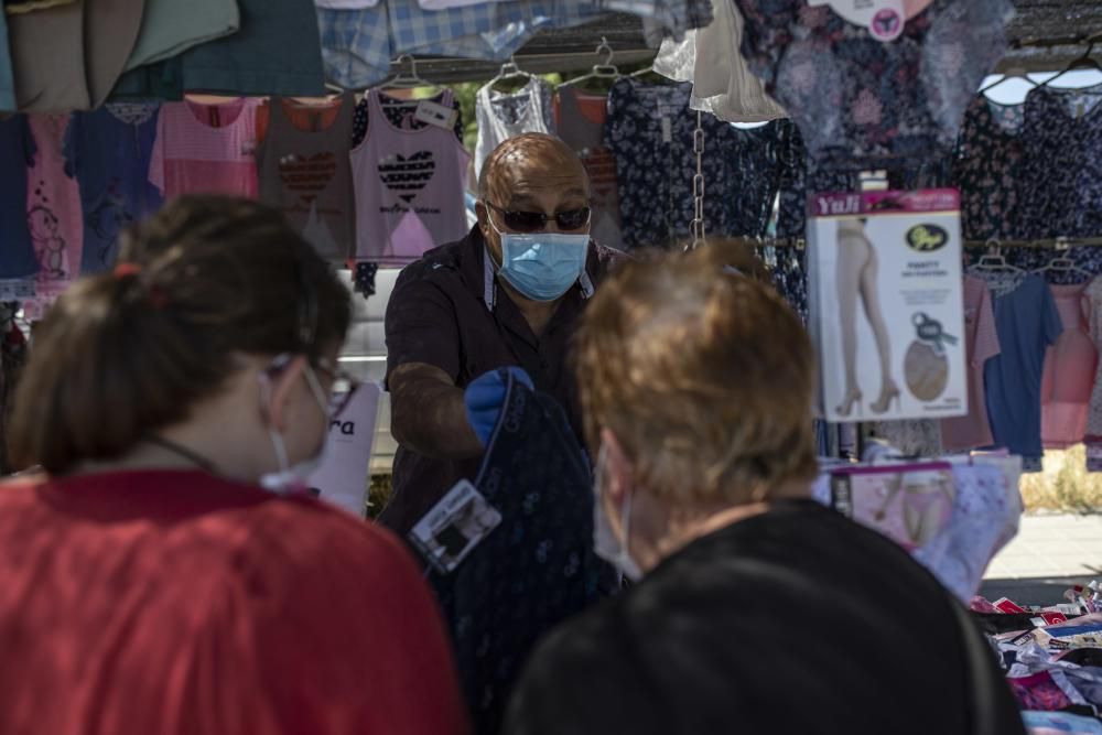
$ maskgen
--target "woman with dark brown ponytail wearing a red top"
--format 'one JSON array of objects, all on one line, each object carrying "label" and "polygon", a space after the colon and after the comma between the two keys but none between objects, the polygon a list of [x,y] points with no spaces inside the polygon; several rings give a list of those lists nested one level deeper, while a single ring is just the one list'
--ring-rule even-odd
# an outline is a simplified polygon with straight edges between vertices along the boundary
[{"label": "woman with dark brown ponytail wearing a red top", "polygon": [[466,732],[401,544],[300,491],[350,396],[345,287],[245,201],[179,199],[121,258],[17,396],[43,472],[0,487],[0,731]]}]

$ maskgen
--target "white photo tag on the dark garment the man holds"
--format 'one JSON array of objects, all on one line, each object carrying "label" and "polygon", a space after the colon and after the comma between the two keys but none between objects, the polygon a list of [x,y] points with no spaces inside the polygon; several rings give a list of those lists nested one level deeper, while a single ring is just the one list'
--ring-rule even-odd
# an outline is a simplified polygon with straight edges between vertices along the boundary
[{"label": "white photo tag on the dark garment the man holds", "polygon": [[410,531],[432,566],[447,574],[501,522],[501,514],[469,480],[456,483]]}]

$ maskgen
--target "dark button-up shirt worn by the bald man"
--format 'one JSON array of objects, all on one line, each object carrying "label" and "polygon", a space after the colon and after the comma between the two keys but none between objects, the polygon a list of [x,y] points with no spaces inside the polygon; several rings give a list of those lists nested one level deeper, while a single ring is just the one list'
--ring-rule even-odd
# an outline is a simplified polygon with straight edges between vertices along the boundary
[{"label": "dark button-up shirt worn by the bald man", "polygon": [[[566,410],[581,439],[582,421],[569,348],[585,306],[617,253],[590,247],[587,278],[563,298],[539,338],[486,268],[486,244],[477,227],[451,245],[431,250],[409,266],[387,307],[388,376],[409,363],[424,363],[446,372],[466,388],[490,370],[519,366],[536,389],[553,396]],[[587,281],[587,282],[586,282]],[[487,301],[490,305],[487,305]],[[400,536],[406,533],[461,479],[474,480],[480,457],[433,460],[399,446],[395,457],[393,494],[379,518]]]}]

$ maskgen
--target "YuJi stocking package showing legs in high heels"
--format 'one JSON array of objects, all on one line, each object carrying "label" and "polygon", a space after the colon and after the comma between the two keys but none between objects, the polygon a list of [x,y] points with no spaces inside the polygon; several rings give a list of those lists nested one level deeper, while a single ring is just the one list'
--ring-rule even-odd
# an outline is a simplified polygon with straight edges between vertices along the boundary
[{"label": "YuJi stocking package showing legs in high heels", "polygon": [[960,194],[815,194],[809,206],[823,417],[966,414]]}]

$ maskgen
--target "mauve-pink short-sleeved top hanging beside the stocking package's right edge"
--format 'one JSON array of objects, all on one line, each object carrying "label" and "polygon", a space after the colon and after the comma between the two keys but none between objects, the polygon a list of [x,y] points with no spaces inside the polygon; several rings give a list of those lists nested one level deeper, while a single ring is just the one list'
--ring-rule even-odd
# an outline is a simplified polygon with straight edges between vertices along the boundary
[{"label": "mauve-pink short-sleeved top hanging beside the stocking package's right edge", "polygon": [[987,392],[983,385],[987,360],[1002,352],[995,312],[987,284],[964,277],[964,339],[968,349],[968,415],[941,422],[941,442],[949,452],[965,452],[995,443],[987,419]]}]

